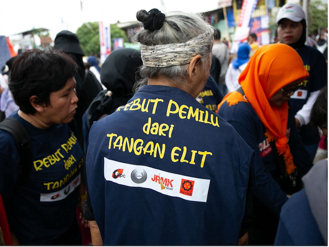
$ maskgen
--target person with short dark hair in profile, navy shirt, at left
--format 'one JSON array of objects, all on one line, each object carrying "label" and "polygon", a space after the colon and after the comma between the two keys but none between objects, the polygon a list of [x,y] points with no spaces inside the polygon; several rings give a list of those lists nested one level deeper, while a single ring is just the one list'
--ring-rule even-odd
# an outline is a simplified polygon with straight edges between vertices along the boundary
[{"label": "person with short dark hair in profile, navy shirt, at left", "polygon": [[[78,98],[75,62],[59,51],[25,51],[15,60],[9,88],[18,120],[30,137],[31,171],[20,184],[23,161],[13,136],[0,131],[0,192],[13,243],[81,244],[75,217],[84,153],[67,125]],[[81,191],[81,192],[80,192]]]}]

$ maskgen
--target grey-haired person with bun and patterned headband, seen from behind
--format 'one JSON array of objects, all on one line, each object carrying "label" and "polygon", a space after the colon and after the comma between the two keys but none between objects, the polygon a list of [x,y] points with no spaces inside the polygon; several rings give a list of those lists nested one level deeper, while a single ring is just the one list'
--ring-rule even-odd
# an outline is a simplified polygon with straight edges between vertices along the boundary
[{"label": "grey-haired person with bun and patterned headband, seen from behind", "polygon": [[184,12],[141,10],[137,19],[144,79],[89,133],[93,244],[237,244],[254,151],[195,100],[209,77],[213,28]]}]

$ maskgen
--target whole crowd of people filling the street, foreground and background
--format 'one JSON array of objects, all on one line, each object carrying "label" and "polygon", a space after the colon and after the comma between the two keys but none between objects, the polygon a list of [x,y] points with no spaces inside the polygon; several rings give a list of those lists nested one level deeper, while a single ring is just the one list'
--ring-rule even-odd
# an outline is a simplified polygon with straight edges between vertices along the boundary
[{"label": "whole crowd of people filling the street, foreground and background", "polygon": [[0,243],[327,244],[324,32],[305,45],[286,4],[276,44],[251,33],[233,59],[198,14],[136,16],[140,51],[101,66],[67,30],[7,62],[31,157],[0,130]]}]

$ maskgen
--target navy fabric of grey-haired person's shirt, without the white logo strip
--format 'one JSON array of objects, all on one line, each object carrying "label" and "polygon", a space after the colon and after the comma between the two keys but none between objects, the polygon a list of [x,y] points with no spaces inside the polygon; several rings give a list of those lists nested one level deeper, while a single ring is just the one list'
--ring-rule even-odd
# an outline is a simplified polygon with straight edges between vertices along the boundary
[{"label": "navy fabric of grey-haired person's shirt, without the white logo strip", "polygon": [[[144,111],[138,109],[136,104],[132,106],[134,102],[142,103],[144,99]],[[150,99],[158,99],[156,108],[152,101],[146,104]],[[185,105],[186,107],[182,108],[185,112],[177,111],[167,116],[169,103],[170,109],[174,112],[177,109],[175,104],[177,107]],[[131,107],[137,110],[129,110]],[[189,109],[198,112],[197,116],[190,116],[188,119]],[[211,114],[214,122],[218,120],[220,127],[216,123],[210,123]],[[159,136],[154,131],[153,134],[144,133],[143,126],[149,118],[152,126],[153,123],[154,126],[155,123],[174,125],[171,137],[168,132],[165,133],[166,136]],[[111,139],[108,135],[112,135]],[[144,145],[154,142],[163,147],[162,144],[165,144],[165,151],[162,157],[154,157],[144,152],[135,154],[135,151],[129,151],[127,148],[124,150],[124,146],[119,147],[117,140],[120,136],[127,137],[128,140],[141,139]],[[138,147],[140,145],[139,143]],[[181,149],[176,152],[177,156],[172,154],[175,147]],[[183,157],[184,150],[186,156]],[[195,155],[195,162],[190,161],[192,150],[212,154],[205,156],[202,166],[201,155],[198,153]],[[130,187],[106,181],[104,157],[127,163],[127,166],[134,164],[161,170],[173,176],[208,179],[210,187],[207,200],[191,201],[149,188]],[[191,95],[180,89],[165,86],[148,85],[140,88],[126,106],[119,107],[111,115],[94,122],[89,134],[86,156],[88,192],[103,243],[237,244],[244,215],[250,167],[253,166],[253,150],[232,126],[200,105]],[[123,176],[125,167],[122,169]],[[149,181],[148,178],[156,175],[148,174],[146,183]],[[126,174],[126,178],[130,176]],[[118,177],[115,171],[112,177]]]}]

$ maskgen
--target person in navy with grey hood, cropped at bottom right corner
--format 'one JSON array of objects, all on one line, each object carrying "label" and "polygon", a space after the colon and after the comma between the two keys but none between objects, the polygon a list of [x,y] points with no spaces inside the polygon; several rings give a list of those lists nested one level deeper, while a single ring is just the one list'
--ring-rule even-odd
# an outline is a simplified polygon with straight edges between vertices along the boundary
[{"label": "person in navy with grey hood, cropped at bottom right corner", "polygon": [[283,205],[275,245],[327,244],[327,169],[327,158],[314,164],[305,188]]}]

